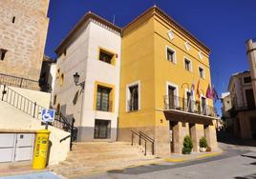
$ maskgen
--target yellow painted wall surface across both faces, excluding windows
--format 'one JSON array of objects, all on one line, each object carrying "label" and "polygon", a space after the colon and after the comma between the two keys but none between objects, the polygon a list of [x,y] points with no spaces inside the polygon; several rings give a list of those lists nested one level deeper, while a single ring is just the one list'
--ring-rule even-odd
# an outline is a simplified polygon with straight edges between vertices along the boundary
[{"label": "yellow painted wall surface across both faces, excluding windows", "polygon": [[[190,89],[193,81],[196,93],[200,79],[203,95],[210,84],[209,59],[205,50],[194,44],[192,39],[181,31],[163,22],[157,15],[146,21],[143,21],[143,18],[145,17],[140,17],[139,21],[132,24],[132,28],[125,29],[122,37],[120,129],[145,126],[167,127],[168,121],[163,112],[156,110],[164,108],[163,95],[166,94],[167,81],[179,86],[180,97],[184,97],[185,88]],[[172,41],[168,38],[168,30],[175,32],[175,38]],[[189,51],[184,47],[186,41],[191,46]],[[177,64],[167,61],[166,46],[176,50]],[[203,52],[203,59],[200,59],[199,51]],[[192,71],[184,69],[183,57],[191,60]],[[205,79],[199,76],[199,66],[204,69]],[[126,112],[126,85],[138,80],[141,86],[141,109],[136,112]],[[184,83],[187,85],[182,85]],[[196,100],[198,100],[197,97]],[[207,99],[207,105],[212,105],[212,100]]]}]

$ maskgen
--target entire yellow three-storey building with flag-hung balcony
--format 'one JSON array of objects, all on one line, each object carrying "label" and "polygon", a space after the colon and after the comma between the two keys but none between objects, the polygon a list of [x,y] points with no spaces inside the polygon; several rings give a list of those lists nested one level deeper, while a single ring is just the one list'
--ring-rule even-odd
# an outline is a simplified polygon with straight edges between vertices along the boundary
[{"label": "entire yellow three-storey building with flag-hung balcony", "polygon": [[[217,149],[209,52],[203,43],[157,7],[122,31],[118,139],[131,130],[155,139],[155,153],[181,153],[185,135],[194,150],[205,136]],[[193,84],[193,85],[192,85]]]}]

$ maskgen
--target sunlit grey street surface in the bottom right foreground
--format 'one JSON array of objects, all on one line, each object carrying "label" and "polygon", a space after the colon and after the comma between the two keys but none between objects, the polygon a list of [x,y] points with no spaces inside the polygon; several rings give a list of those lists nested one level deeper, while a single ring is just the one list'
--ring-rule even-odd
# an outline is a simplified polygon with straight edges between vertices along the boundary
[{"label": "sunlit grey street surface in the bottom right foreground", "polygon": [[219,146],[224,153],[219,156],[183,163],[160,163],[158,165],[113,170],[107,173],[77,177],[77,179],[106,179],[106,178],[218,178],[218,179],[255,179],[256,178],[256,147],[249,145],[226,143],[222,140]]}]

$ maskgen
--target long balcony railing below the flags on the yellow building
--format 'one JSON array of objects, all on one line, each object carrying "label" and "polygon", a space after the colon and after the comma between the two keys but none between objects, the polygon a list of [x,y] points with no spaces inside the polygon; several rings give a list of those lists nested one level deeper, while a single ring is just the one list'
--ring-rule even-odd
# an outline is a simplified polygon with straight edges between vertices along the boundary
[{"label": "long balcony railing below the flags on the yellow building", "polygon": [[[205,99],[206,100],[206,99]],[[164,109],[178,109],[181,111],[197,113],[216,117],[216,109],[212,106],[203,104],[201,101],[181,98],[179,96],[164,95]]]}]

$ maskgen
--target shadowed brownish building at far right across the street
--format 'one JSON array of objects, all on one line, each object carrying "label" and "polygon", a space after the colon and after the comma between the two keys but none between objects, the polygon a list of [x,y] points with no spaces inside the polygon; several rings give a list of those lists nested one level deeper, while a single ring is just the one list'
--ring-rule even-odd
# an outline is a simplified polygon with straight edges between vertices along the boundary
[{"label": "shadowed brownish building at far right across the street", "polygon": [[228,90],[232,108],[229,109],[233,132],[242,138],[255,138],[255,103],[250,71],[233,74]]}]

